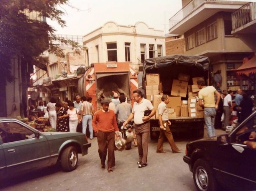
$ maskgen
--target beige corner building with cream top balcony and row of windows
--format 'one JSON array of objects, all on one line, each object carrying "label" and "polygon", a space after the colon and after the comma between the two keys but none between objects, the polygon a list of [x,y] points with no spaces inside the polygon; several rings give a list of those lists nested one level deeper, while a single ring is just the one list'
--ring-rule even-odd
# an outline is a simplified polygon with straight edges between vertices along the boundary
[{"label": "beige corner building with cream top balcony and row of windows", "polygon": [[182,9],[169,19],[169,33],[184,35],[186,55],[209,57],[213,76],[221,74],[221,79],[213,78],[213,85],[219,83],[221,89],[238,89],[238,83],[231,81],[235,78],[232,70],[253,53],[247,44],[231,34],[231,14],[244,4],[246,2],[182,0]]}]

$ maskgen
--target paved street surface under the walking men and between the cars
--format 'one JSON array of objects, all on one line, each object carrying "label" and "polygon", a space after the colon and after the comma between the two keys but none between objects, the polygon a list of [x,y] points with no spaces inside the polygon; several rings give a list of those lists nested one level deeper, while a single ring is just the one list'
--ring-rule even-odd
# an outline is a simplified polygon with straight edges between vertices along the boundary
[{"label": "paved street surface under the walking men and between the cars", "polygon": [[[206,130],[205,130],[206,131]],[[216,134],[224,133],[217,130]],[[176,144],[181,153],[173,154],[167,142],[164,150],[167,153],[156,153],[157,141],[149,142],[148,166],[138,168],[138,151],[132,149],[116,151],[116,167],[113,173],[100,169],[97,152],[97,138],[94,138],[89,154],[79,155],[78,168],[73,172],[63,172],[60,165],[45,168],[25,176],[1,182],[0,189],[7,190],[184,190],[196,191],[192,173],[183,162],[188,138],[177,138]],[[29,152],[29,151],[28,151]]]}]

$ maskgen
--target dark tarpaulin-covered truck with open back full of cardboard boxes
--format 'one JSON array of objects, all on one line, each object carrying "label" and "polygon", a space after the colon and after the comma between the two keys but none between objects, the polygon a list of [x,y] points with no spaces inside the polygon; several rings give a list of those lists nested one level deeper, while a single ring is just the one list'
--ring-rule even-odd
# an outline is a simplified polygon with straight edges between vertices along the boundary
[{"label": "dark tarpaulin-covered truck with open back full of cardboard boxes", "polygon": [[[163,94],[170,95],[168,118],[173,133],[203,137],[203,108],[198,103],[197,79],[209,83],[210,61],[207,57],[169,55],[145,59],[142,91],[157,110]],[[139,82],[140,83],[140,82]],[[150,138],[159,135],[158,113],[150,118]]]}]

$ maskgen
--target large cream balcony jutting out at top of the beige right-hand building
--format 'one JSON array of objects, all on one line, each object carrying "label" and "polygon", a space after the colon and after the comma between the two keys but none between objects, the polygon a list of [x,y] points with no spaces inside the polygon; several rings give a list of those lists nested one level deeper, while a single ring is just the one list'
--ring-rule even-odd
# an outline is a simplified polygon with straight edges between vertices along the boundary
[{"label": "large cream balcony jutting out at top of the beige right-hand building", "polygon": [[220,11],[233,12],[245,2],[227,0],[192,0],[169,19],[170,34],[184,34]]}]

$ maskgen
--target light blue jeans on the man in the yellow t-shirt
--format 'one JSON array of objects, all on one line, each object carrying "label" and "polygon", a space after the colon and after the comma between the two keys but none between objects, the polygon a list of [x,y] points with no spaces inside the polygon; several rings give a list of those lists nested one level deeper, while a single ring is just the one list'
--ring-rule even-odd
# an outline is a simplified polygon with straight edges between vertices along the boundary
[{"label": "light blue jeans on the man in the yellow t-shirt", "polygon": [[215,108],[211,107],[206,107],[204,109],[204,118],[205,118],[205,126],[207,130],[207,135],[208,137],[213,137],[215,136],[215,129],[214,129],[214,120],[215,120],[215,115],[216,111]]}]

